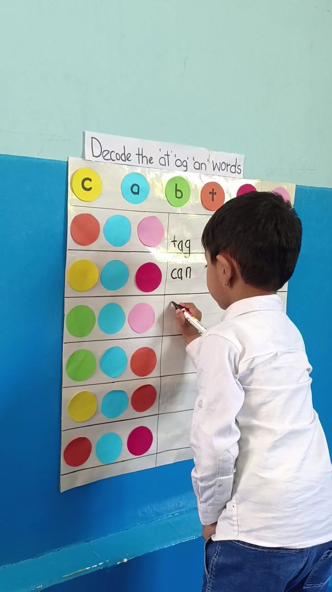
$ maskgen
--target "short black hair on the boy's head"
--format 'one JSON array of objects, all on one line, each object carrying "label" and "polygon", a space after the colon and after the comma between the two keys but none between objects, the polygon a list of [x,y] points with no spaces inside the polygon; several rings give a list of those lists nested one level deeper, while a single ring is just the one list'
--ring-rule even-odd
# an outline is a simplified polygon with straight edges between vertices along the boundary
[{"label": "short black hair on the boy's head", "polygon": [[289,202],[269,191],[251,191],[212,215],[202,245],[212,262],[219,253],[233,258],[246,284],[275,292],[294,272],[301,238],[301,220]]}]

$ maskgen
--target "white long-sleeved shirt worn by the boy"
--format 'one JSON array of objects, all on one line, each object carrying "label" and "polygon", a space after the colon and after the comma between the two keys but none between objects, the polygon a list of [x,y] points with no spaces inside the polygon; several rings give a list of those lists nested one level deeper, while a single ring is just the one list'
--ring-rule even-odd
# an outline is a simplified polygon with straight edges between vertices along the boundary
[{"label": "white long-sleeved shirt worn by the boy", "polygon": [[332,468],[311,366],[277,295],[232,304],[187,348],[197,369],[192,482],[215,540],[303,548],[332,539]]}]

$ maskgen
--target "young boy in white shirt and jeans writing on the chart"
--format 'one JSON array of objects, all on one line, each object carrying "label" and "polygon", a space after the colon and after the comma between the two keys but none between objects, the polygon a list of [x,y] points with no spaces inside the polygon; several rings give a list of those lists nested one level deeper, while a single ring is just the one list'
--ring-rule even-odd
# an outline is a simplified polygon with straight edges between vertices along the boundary
[{"label": "young boy in white shirt and jeans writing on the chart", "polygon": [[[328,587],[331,462],[304,343],[276,295],[294,272],[301,236],[279,195],[228,201],[202,236],[223,320],[199,337],[176,311],[197,368],[192,482],[207,540],[205,592]],[[181,304],[200,320],[194,304]]]}]

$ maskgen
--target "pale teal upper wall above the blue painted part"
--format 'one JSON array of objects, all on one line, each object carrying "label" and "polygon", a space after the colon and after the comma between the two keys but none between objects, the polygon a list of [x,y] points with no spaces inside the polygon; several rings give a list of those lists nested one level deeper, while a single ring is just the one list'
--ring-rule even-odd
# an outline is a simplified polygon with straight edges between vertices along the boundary
[{"label": "pale teal upper wall above the blue painted part", "polygon": [[244,153],[245,176],[332,185],[330,0],[13,0],[0,152],[65,160],[82,131]]}]

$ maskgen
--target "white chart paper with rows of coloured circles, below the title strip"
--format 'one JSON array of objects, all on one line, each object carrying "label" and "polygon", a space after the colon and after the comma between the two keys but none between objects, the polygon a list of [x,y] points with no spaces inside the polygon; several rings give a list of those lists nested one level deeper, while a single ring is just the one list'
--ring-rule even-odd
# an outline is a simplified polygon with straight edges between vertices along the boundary
[{"label": "white chart paper with rows of coloured circles, below the title strip", "polygon": [[201,246],[214,195],[228,201],[252,186],[293,202],[295,193],[82,159],[69,159],[68,185],[62,491],[192,458],[196,373],[171,301],[194,301],[207,327],[221,321]]}]

